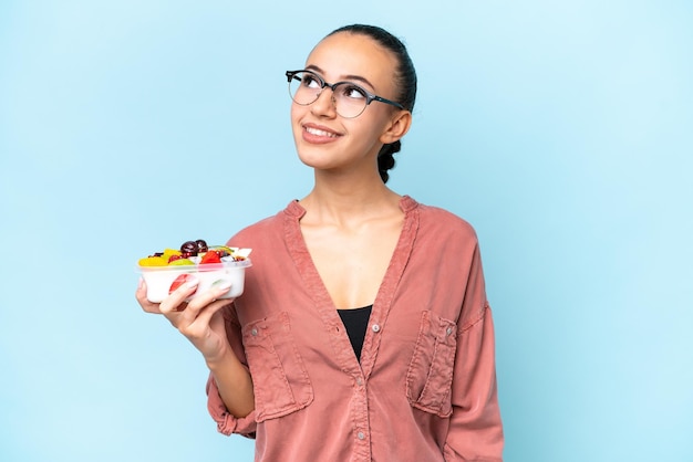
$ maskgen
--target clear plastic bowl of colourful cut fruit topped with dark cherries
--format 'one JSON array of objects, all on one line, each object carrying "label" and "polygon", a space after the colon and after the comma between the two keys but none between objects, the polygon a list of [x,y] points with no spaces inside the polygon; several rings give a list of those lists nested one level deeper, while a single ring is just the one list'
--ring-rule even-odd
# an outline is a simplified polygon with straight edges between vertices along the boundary
[{"label": "clear plastic bowl of colourful cut fruit topped with dark cherries", "polygon": [[230,288],[217,298],[235,298],[244,293],[246,269],[252,263],[250,249],[207,245],[203,239],[186,241],[179,249],[164,249],[137,262],[137,270],[147,285],[147,300],[161,303],[188,281],[198,281],[197,290],[187,301],[224,283]]}]

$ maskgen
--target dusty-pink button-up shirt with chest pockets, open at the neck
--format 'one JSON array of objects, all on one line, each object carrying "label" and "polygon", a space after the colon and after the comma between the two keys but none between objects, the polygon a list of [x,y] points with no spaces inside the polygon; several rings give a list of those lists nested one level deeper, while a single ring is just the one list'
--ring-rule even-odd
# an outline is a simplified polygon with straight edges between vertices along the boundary
[{"label": "dusty-pink button-up shirt with chest pockets, open at the neck", "polygon": [[225,318],[256,408],[230,416],[210,377],[208,409],[221,433],[256,438],[256,461],[501,461],[476,234],[410,197],[401,208],[361,363],[306,248],[298,202],[229,241],[254,249],[245,293]]}]

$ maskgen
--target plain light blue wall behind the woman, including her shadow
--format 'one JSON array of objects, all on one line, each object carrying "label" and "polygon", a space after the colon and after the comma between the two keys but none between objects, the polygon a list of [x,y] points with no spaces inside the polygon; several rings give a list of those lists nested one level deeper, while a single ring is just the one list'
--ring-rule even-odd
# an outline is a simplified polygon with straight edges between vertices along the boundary
[{"label": "plain light blue wall behind the woman, including her shadow", "polygon": [[684,0],[0,2],[0,460],[251,460],[134,264],[309,191],[282,73],[351,22],[420,74],[390,185],[479,234],[506,460],[693,460]]}]

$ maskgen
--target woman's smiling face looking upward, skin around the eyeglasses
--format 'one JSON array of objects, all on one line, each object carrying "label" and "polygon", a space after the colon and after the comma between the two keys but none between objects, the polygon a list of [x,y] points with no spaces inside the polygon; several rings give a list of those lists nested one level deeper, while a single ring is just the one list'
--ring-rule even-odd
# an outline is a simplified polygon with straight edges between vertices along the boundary
[{"label": "woman's smiling face looking upward, skin around the eyeglasses", "polygon": [[[377,42],[349,32],[323,39],[306,62],[306,69],[330,84],[353,82],[387,99],[394,99],[397,93],[393,73],[396,65],[394,55]],[[316,169],[364,168],[376,174],[377,151],[383,143],[395,140],[387,133],[401,113],[391,105],[373,102],[358,117],[344,118],[334,109],[332,91],[324,88],[318,101],[308,106],[291,104],[299,158]]]}]

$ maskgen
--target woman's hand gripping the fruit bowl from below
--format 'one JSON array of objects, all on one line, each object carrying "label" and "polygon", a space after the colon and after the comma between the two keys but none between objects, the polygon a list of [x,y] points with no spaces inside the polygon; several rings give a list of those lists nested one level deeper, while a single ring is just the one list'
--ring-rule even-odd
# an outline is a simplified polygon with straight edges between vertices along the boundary
[{"label": "woman's hand gripping the fruit bowl from below", "polygon": [[220,309],[232,300],[217,300],[229,290],[228,285],[221,285],[197,294],[186,303],[185,300],[197,288],[197,283],[196,280],[189,281],[176,288],[162,303],[152,303],[146,297],[146,284],[141,281],[135,297],[145,312],[164,315],[209,364],[229,353],[230,346],[226,339]]}]

